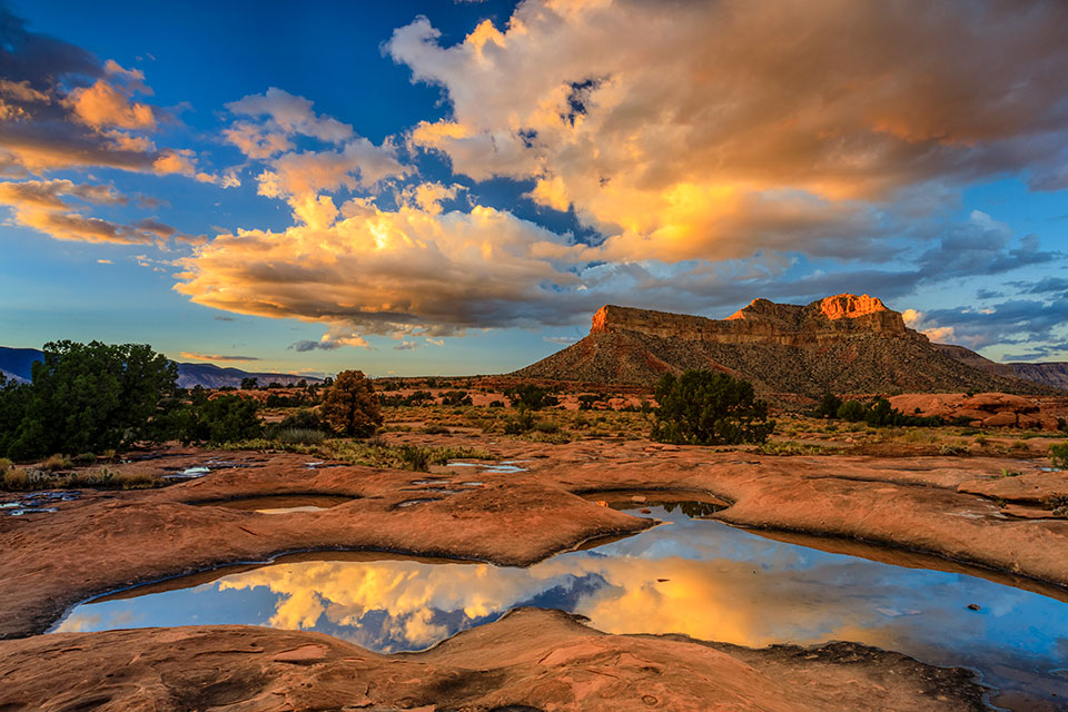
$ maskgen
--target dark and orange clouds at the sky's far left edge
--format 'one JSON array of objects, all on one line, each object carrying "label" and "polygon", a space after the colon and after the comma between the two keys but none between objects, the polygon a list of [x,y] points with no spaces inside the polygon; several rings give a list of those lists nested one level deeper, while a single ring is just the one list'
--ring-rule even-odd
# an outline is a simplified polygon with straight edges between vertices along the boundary
[{"label": "dark and orange clouds at the sky's far left edge", "polygon": [[[125,206],[110,186],[38,180],[56,170],[118,168],[207,177],[187,149],[158,149],[150,138],[160,112],[137,100],[151,95],[145,75],[113,60],[30,32],[0,6],[0,202],[11,221],[50,237],[91,243],[146,243],[176,230],[146,219],[117,222],[90,206]],[[72,202],[72,199],[79,202]]]}]

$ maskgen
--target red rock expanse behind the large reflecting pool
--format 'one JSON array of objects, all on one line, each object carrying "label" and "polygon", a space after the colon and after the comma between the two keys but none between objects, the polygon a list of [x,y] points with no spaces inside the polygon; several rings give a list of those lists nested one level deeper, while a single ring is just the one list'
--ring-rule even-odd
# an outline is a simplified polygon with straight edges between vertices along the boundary
[{"label": "red rock expanse behind the large reflecting pool", "polygon": [[[482,486],[454,494],[442,494],[439,481],[416,484],[427,482],[421,473],[308,469],[305,456],[225,453],[235,466],[201,479],[87,492],[55,513],[0,517],[0,637],[40,633],[92,595],[286,552],[375,550],[526,565],[649,526],[574,494],[595,490],[705,492],[734,503],[715,515],[733,524],[890,545],[1068,586],[1068,520],[1013,517],[995,502],[1068,496],[1068,476],[1036,464],[1021,463],[1020,475],[1007,478],[1005,461],[983,457],[771,457],[647,441],[498,447],[530,461],[528,471],[484,471]],[[219,455],[165,454],[122,467],[184,467]],[[451,473],[457,482],[471,474]],[[286,516],[196,506],[313,493],[356,498]]]}]

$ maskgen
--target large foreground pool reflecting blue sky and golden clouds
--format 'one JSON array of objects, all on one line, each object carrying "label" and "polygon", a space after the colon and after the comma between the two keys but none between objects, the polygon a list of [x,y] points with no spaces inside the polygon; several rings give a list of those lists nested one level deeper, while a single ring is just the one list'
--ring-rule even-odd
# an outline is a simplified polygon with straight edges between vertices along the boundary
[{"label": "large foreground pool reflecting blue sky and golden clouds", "polygon": [[[528,568],[279,562],[224,570],[194,587],[86,603],[58,630],[246,623],[315,630],[395,652],[537,605],[581,613],[612,633],[685,633],[750,646],[856,641],[978,668],[989,682],[1051,700],[1068,694],[1068,683],[1051,674],[1068,659],[1068,604],[963,573],[764,538],[690,520],[688,511],[703,508],[669,511],[672,504],[629,504],[668,523]],[[980,610],[969,610],[972,603]]]}]

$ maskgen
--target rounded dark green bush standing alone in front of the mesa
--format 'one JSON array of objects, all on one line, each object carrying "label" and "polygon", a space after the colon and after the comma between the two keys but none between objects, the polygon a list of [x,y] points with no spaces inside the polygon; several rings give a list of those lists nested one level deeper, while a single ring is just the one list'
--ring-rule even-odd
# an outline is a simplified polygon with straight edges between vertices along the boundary
[{"label": "rounded dark green bush standing alone in front of the mesa", "polygon": [[748,380],[710,370],[664,374],[656,384],[652,437],[680,445],[763,443],[774,429]]}]

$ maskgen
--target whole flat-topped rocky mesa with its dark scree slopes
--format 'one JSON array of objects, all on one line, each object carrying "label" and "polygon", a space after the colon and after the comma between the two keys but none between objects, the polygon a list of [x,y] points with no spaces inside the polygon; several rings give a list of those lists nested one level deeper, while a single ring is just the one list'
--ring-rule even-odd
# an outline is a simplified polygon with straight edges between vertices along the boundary
[{"label": "whole flat-topped rocky mesa with its dark scree slopes", "polygon": [[664,372],[710,368],[764,394],[1000,390],[1050,393],[962,363],[868,295],[807,306],[754,299],[726,319],[605,306],[577,344],[515,372],[523,378],[652,385]]}]

